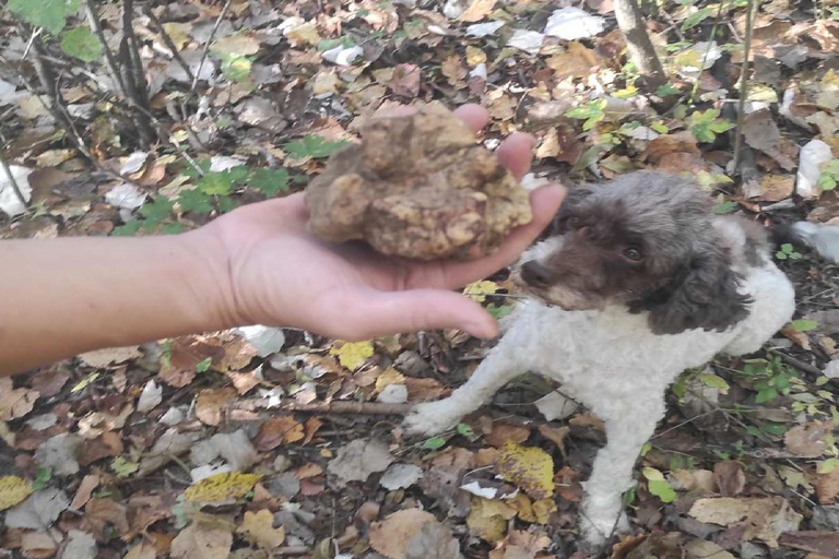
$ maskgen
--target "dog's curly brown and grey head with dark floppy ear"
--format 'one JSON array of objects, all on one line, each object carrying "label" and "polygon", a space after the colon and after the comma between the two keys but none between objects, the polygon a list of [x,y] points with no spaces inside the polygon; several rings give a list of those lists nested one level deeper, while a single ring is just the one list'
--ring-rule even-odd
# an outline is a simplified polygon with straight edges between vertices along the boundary
[{"label": "dog's curly brown and grey head with dark floppy ear", "polygon": [[638,171],[580,186],[513,281],[566,310],[649,311],[657,334],[723,331],[747,316],[749,300],[713,219],[711,199],[681,177]]}]

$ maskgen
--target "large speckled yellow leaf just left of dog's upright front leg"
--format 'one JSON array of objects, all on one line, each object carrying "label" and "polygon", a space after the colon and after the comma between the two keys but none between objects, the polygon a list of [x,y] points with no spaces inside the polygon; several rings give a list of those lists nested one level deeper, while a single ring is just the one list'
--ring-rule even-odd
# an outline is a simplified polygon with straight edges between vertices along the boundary
[{"label": "large speckled yellow leaf just left of dog's upright front leg", "polygon": [[554,459],[542,449],[507,441],[498,453],[496,469],[533,499],[547,499],[554,493]]}]

